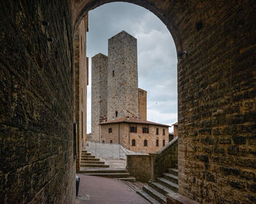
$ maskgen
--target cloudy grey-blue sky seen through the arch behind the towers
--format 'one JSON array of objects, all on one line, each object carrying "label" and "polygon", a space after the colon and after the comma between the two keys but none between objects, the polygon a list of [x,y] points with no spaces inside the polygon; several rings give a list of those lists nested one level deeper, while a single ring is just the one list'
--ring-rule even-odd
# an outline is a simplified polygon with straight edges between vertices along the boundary
[{"label": "cloudy grey-blue sky seen through the arch behind the towers", "polygon": [[162,21],[147,9],[118,2],[89,12],[87,133],[91,133],[91,57],[99,52],[108,55],[108,39],[123,30],[138,39],[138,82],[148,92],[148,120],[167,125],[177,122],[177,58],[173,38]]}]

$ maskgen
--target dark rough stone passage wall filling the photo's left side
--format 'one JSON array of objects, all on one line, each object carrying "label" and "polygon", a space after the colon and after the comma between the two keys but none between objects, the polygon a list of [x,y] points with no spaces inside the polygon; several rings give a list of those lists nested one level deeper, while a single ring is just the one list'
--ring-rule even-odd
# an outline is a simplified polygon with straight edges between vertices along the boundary
[{"label": "dark rough stone passage wall filling the photo's left side", "polygon": [[74,203],[70,1],[0,2],[0,203]]}]

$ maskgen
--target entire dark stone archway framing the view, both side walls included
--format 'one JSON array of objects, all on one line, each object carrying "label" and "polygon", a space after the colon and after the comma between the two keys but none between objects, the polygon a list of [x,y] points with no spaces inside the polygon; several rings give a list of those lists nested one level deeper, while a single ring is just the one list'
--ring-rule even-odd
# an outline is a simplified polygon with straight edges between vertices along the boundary
[{"label": "entire dark stone archway framing the view, both side walls included", "polygon": [[[1,1],[1,203],[75,200],[72,42],[81,17],[108,2]],[[127,2],[154,12],[181,51],[180,193],[255,203],[255,1]]]}]

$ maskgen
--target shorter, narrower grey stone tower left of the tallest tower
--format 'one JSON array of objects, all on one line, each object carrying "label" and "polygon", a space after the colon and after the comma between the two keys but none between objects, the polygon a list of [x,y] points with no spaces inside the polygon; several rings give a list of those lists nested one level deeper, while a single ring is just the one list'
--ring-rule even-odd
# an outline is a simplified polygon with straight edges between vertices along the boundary
[{"label": "shorter, narrower grey stone tower left of the tallest tower", "polygon": [[99,141],[99,119],[108,115],[108,57],[91,58],[91,138]]}]

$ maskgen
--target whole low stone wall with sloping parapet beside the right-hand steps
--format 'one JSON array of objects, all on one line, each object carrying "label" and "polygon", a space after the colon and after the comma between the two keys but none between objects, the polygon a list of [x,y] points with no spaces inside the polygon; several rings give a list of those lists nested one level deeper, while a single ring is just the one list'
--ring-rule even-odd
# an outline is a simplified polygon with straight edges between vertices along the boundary
[{"label": "whole low stone wall with sloping parapet beside the right-hand steps", "polygon": [[127,170],[137,181],[156,179],[178,163],[178,138],[155,154],[127,154]]}]

